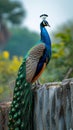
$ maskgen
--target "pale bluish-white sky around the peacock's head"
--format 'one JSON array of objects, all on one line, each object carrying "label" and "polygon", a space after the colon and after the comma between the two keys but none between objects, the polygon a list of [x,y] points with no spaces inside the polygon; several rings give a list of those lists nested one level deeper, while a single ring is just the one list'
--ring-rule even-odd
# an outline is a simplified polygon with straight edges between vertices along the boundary
[{"label": "pale bluish-white sky around the peacock's head", "polygon": [[30,30],[39,31],[41,14],[48,14],[47,21],[51,28],[55,30],[62,23],[73,20],[73,0],[22,0],[27,12],[23,25]]}]

